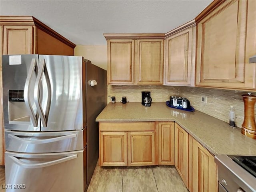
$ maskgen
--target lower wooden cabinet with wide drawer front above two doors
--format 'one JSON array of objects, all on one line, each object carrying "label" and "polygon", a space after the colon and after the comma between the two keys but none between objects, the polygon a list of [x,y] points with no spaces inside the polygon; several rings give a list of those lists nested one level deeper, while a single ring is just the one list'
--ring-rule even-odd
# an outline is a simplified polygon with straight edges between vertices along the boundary
[{"label": "lower wooden cabinet with wide drawer front above two doors", "polygon": [[155,122],[100,122],[100,166],[157,164],[158,130],[155,124]]}]

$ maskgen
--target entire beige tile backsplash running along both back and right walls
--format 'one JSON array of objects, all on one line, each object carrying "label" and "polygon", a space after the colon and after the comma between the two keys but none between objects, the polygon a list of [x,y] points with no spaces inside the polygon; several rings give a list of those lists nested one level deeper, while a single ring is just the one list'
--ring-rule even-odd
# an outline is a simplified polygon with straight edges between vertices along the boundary
[{"label": "entire beige tile backsplash running along both back and right walls", "polygon": [[[233,105],[236,113],[236,126],[241,128],[244,121],[244,102],[242,95],[248,92],[181,86],[108,85],[108,96],[116,96],[116,102],[122,100],[122,96],[126,96],[130,102],[141,102],[141,91],[150,91],[153,102],[166,102],[172,95],[186,97],[196,110],[225,122],[229,121],[230,105]],[[256,95],[256,92],[252,92],[252,94]],[[200,96],[206,96],[207,103],[200,102]],[[110,101],[110,98],[108,98],[108,102]]]}]

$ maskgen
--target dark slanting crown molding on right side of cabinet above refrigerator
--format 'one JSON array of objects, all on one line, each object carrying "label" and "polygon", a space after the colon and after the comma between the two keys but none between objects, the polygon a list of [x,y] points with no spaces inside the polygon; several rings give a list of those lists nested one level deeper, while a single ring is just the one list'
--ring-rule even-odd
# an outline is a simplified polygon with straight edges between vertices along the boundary
[{"label": "dark slanting crown molding on right side of cabinet above refrigerator", "polygon": [[40,22],[38,19],[34,18],[33,16],[32,16],[32,18],[34,20],[35,26],[38,27],[39,29],[41,29],[42,31],[50,34],[54,38],[60,40],[61,42],[63,42],[64,44],[66,44],[66,45],[68,45],[70,47],[72,47],[73,49],[76,47],[76,44],[74,44],[70,40],[64,38],[64,36],[62,36],[61,34],[57,33],[56,31],[52,30],[46,24]]}]

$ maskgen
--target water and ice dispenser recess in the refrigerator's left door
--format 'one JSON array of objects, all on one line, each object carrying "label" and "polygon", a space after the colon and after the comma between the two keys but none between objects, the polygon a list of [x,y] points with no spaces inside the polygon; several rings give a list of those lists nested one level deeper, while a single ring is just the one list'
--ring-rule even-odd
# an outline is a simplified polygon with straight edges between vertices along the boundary
[{"label": "water and ice dispenser recess in the refrigerator's left door", "polygon": [[30,124],[24,90],[8,90],[8,112],[10,124]]}]

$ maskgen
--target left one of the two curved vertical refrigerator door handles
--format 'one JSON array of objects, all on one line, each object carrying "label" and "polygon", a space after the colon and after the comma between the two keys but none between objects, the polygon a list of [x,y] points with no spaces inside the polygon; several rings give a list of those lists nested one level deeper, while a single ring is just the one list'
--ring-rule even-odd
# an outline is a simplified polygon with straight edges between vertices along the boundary
[{"label": "left one of the two curved vertical refrigerator door handles", "polygon": [[28,76],[26,78],[26,82],[25,82],[25,86],[24,86],[24,102],[25,102],[26,107],[28,108],[28,113],[29,113],[29,116],[30,116],[33,126],[37,127],[38,120],[36,118],[36,114],[34,114],[34,110],[31,106],[30,98],[29,98],[30,80],[31,80],[32,73],[34,72],[34,70],[36,70],[36,72],[37,72],[36,59],[31,60],[31,65],[28,70]]}]

